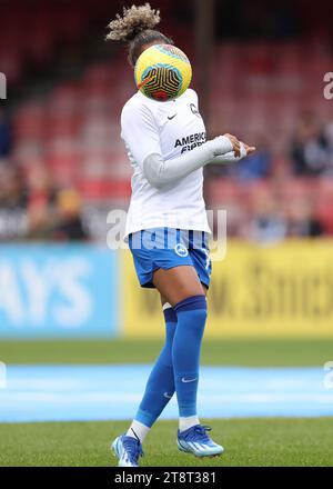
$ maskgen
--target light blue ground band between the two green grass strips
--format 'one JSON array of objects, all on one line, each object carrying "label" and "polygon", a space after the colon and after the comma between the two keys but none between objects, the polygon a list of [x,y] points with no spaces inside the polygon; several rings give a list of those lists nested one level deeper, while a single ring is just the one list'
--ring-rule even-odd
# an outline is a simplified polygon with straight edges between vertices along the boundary
[{"label": "light blue ground band between the two green grass strips", "polygon": [[[130,419],[150,366],[9,366],[0,422]],[[203,367],[203,418],[333,416],[321,368]],[[175,418],[173,399],[163,418]]]}]

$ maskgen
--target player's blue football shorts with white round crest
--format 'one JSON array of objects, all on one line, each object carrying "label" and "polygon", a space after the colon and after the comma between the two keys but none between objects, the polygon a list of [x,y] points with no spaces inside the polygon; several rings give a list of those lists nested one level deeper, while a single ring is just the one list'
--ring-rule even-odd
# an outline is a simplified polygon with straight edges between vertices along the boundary
[{"label": "player's blue football shorts with white round crest", "polygon": [[141,287],[154,288],[153,272],[162,268],[192,266],[209,288],[212,263],[208,233],[173,228],[154,228],[129,236],[129,246]]}]

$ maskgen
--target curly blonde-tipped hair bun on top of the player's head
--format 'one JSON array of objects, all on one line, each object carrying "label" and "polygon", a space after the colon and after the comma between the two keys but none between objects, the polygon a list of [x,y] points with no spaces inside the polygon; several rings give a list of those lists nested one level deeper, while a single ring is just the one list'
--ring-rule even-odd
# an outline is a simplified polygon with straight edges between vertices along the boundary
[{"label": "curly blonde-tipped hair bun on top of the player's head", "polygon": [[110,32],[107,40],[130,42],[144,30],[153,29],[160,22],[160,10],[154,10],[149,3],[123,8],[108,28]]}]

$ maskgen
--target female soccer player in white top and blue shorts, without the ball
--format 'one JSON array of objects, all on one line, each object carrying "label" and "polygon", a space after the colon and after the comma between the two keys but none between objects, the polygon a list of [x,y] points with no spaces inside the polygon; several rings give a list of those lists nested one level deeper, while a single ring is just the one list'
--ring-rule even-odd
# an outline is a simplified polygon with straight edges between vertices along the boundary
[{"label": "female soccer player in white top and blue shorts, without the ball", "polygon": [[[110,22],[107,39],[127,42],[134,67],[149,47],[173,44],[153,30],[159,21],[159,11],[149,3],[132,6]],[[192,89],[167,102],[138,91],[122,110],[121,137],[133,169],[127,237],[141,287],[160,292],[167,339],[137,416],[112,448],[120,467],[138,467],[147,433],[175,392],[179,449],[196,457],[220,455],[223,448],[208,436],[210,428],[200,425],[196,413],[211,275],[202,168],[238,161],[255,148],[231,134],[205,141],[198,96]]]}]

